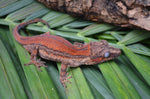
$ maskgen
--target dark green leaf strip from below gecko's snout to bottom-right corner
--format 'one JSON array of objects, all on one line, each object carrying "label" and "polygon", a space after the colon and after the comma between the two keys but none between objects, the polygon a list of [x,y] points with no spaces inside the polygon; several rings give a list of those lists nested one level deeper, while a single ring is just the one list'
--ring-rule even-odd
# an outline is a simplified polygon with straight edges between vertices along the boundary
[{"label": "dark green leaf strip from below gecko's snout to bottom-right corner", "polygon": [[144,81],[142,81],[140,77],[137,76],[138,74],[136,74],[136,71],[133,71],[133,69],[131,69],[133,67],[132,64],[127,60],[126,57],[119,57],[119,60],[120,62],[118,64],[121,70],[125,73],[132,85],[136,88],[141,98],[149,99],[150,89],[144,83]]}]

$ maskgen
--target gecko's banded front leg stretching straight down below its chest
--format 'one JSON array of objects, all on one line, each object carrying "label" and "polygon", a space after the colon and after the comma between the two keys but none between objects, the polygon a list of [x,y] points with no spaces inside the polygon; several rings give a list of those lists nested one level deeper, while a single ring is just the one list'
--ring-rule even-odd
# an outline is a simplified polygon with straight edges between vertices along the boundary
[{"label": "gecko's banded front leg stretching straight down below its chest", "polygon": [[60,70],[60,82],[62,83],[64,87],[67,87],[66,82],[71,83],[70,81],[68,81],[68,79],[71,78],[71,76],[68,76],[68,73],[66,73],[66,70],[67,70],[67,65],[62,63],[61,70]]}]

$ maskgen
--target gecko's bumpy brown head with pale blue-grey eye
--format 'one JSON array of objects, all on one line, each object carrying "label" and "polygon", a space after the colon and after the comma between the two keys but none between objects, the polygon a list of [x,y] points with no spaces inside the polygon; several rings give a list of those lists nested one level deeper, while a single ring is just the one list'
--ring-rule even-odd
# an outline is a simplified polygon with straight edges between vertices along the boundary
[{"label": "gecko's bumpy brown head with pale blue-grey eye", "polygon": [[90,45],[91,61],[93,64],[114,59],[121,54],[120,49],[108,45],[106,40],[102,40],[100,42],[90,42]]}]

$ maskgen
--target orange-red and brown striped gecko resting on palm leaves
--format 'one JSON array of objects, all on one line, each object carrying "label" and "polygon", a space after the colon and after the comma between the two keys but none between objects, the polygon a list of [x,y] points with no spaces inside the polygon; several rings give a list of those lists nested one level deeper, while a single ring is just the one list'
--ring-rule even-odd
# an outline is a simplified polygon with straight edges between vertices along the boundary
[{"label": "orange-red and brown striped gecko resting on palm leaves", "polygon": [[74,45],[66,39],[51,35],[46,32],[41,35],[32,37],[23,37],[19,35],[19,30],[28,24],[42,22],[48,27],[48,23],[41,19],[34,19],[24,22],[15,27],[13,35],[15,39],[23,45],[23,47],[31,53],[31,61],[25,65],[34,64],[40,70],[40,66],[44,66],[44,62],[37,59],[37,55],[43,59],[61,62],[60,81],[64,87],[68,81],[67,67],[78,67],[80,65],[93,65],[110,59],[114,59],[121,54],[120,49],[108,45],[108,42],[102,40],[100,42],[90,42],[82,44],[75,42]]}]

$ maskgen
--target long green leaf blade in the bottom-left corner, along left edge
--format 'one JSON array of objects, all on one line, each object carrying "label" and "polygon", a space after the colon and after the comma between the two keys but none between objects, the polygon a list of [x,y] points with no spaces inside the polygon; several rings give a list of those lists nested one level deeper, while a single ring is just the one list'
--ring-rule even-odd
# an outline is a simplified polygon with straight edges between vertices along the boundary
[{"label": "long green leaf blade in the bottom-left corner, along left edge", "polygon": [[[18,99],[19,98],[27,99],[27,96],[25,94],[20,78],[15,70],[14,64],[1,40],[0,40],[0,46],[1,46],[0,47],[1,68],[3,69],[3,72],[5,73],[5,80],[7,80],[7,83],[9,84],[8,85],[9,88],[7,87],[7,90],[9,89],[12,93],[10,94],[10,96],[13,95],[13,97],[18,98]],[[2,91],[3,89],[0,89],[0,90]],[[4,97],[6,97],[5,94],[4,94]]]}]

